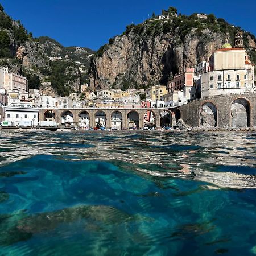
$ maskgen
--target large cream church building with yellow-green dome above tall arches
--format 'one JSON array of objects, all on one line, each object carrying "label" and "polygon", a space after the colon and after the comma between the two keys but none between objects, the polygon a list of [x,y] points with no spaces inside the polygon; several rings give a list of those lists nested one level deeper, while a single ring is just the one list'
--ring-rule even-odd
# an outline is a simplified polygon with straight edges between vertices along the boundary
[{"label": "large cream church building with yellow-green dome above tall arches", "polygon": [[215,51],[211,70],[201,74],[201,97],[253,92],[254,64],[244,48],[232,48],[227,42]]}]

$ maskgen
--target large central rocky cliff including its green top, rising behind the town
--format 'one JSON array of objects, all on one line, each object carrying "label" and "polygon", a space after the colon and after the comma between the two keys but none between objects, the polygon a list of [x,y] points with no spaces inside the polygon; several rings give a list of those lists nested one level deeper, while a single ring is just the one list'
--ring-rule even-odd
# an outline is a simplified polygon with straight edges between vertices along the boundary
[{"label": "large central rocky cliff including its green top, rising behind the town", "polygon": [[[203,18],[200,18],[202,17]],[[168,78],[204,61],[238,28],[214,15],[172,15],[127,26],[94,55],[90,67],[93,88],[146,88],[167,84]],[[245,32],[245,47],[256,61],[256,38]]]}]

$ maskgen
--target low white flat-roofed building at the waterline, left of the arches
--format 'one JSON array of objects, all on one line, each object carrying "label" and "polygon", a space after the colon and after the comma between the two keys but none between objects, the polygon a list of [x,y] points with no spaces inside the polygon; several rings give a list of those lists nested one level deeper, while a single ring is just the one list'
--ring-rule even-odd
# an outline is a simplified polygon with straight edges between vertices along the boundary
[{"label": "low white flat-roofed building at the waterline, left of the arches", "polygon": [[39,109],[36,108],[3,108],[3,120],[13,126],[38,126]]}]

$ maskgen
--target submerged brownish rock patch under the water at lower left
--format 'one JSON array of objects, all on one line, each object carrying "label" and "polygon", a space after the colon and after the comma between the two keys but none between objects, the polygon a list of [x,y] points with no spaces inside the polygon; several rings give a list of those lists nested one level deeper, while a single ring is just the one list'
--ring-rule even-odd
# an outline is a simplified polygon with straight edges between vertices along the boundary
[{"label": "submerged brownish rock patch under the water at lower left", "polygon": [[[75,221],[85,221],[85,229],[99,224],[113,225],[127,221],[139,220],[139,216],[132,216],[115,207],[106,205],[79,205],[53,212],[33,215],[21,213],[17,215],[2,214],[0,216],[0,245],[12,245],[19,241],[26,241],[34,234],[54,230],[60,224]],[[143,218],[141,218],[143,220]],[[11,226],[9,226],[11,224]],[[97,231],[98,229],[95,229]],[[92,231],[90,229],[90,231]]]}]

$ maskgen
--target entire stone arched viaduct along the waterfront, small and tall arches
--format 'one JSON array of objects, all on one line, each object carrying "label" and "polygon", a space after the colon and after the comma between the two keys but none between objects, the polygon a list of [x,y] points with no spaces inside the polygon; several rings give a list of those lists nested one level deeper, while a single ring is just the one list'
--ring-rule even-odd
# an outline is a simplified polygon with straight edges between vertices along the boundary
[{"label": "entire stone arched viaduct along the waterfront, small and tall arches", "polygon": [[[47,113],[52,113],[57,123],[63,123],[63,118],[72,115],[72,123],[79,126],[82,119],[87,119],[90,127],[104,123],[106,128],[112,128],[113,123],[129,128],[131,122],[137,129],[145,125],[147,118],[154,119],[155,127],[173,126],[179,118],[187,125],[196,127],[208,123],[219,127],[256,126],[256,93],[232,94],[215,96],[189,102],[183,106],[157,108],[81,108],[81,109],[40,109],[39,121],[46,120]],[[85,122],[85,121],[84,121]]]}]

